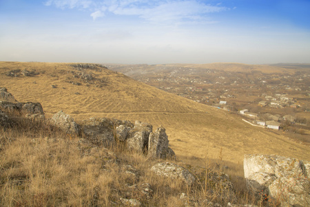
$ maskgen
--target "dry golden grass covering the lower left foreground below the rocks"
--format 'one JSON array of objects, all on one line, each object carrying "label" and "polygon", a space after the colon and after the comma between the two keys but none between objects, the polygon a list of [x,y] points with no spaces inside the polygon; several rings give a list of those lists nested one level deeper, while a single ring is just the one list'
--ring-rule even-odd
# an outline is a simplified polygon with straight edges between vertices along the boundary
[{"label": "dry golden grass covering the lower left foreground below the rocks", "polygon": [[[199,184],[154,175],[150,168],[160,160],[139,153],[94,146],[32,121],[0,130],[0,206],[125,206],[121,199],[183,206],[181,193],[196,202],[223,202]],[[149,195],[141,191],[146,183]]]}]

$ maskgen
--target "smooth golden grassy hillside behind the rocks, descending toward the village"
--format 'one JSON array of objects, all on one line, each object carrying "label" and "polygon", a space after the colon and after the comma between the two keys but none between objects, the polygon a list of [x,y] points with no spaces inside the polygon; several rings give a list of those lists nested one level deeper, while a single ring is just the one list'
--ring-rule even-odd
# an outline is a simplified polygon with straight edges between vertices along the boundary
[{"label": "smooth golden grassy hillside behind the rocks, descending toward the village", "polygon": [[[41,72],[37,77],[3,74],[14,69],[45,70],[45,74]],[[72,70],[67,63],[1,62],[0,86],[8,88],[18,101],[39,101],[47,117],[62,109],[77,121],[114,117],[147,121],[154,128],[163,125],[176,155],[218,158],[222,148],[223,160],[236,164],[241,164],[247,153],[310,159],[309,146],[293,142],[280,132],[249,126],[223,110],[171,95],[110,70],[92,71],[107,81],[103,88],[85,83],[75,86],[65,82],[72,77],[68,72]]]}]

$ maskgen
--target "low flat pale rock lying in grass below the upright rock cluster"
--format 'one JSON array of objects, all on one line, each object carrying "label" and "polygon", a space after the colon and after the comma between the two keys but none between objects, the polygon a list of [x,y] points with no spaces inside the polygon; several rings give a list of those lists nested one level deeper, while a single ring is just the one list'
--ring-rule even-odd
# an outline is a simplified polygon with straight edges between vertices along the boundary
[{"label": "low flat pale rock lying in grass below the upright rock cluster", "polygon": [[189,186],[194,184],[196,180],[189,170],[171,162],[156,164],[152,166],[151,170],[155,172],[156,175],[168,177],[169,179],[181,179]]}]

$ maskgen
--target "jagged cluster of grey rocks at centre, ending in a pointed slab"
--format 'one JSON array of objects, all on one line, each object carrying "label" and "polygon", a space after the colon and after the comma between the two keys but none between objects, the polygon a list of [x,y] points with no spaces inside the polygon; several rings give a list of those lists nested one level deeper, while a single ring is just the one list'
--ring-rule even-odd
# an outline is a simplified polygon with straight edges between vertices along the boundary
[{"label": "jagged cluster of grey rocks at centre, ending in a pointed slab", "polygon": [[125,144],[127,150],[143,152],[154,158],[171,159],[174,151],[168,147],[169,141],[162,126],[152,132],[152,125],[141,121],[132,124],[130,121],[121,121],[107,118],[90,118],[82,124],[83,134],[94,144],[113,145]]}]

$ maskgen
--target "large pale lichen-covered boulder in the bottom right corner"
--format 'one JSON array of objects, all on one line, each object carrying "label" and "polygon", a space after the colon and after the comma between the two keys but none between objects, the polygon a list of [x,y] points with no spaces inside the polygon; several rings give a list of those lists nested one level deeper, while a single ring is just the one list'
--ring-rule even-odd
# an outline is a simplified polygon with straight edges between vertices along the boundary
[{"label": "large pale lichen-covered boulder in the bottom right corner", "polygon": [[278,155],[245,155],[247,188],[281,206],[310,204],[309,162]]}]

